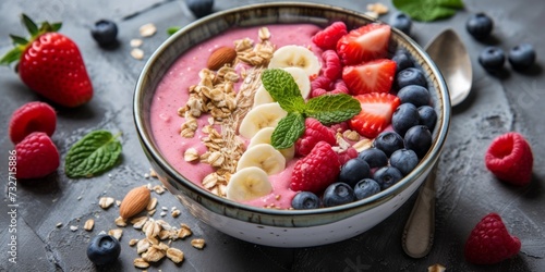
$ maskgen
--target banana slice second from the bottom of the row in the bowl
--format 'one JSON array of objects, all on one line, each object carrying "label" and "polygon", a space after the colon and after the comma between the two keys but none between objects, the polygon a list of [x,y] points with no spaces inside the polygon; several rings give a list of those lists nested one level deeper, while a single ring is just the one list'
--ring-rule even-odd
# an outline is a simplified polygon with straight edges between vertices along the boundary
[{"label": "banana slice second from the bottom of the row in the bowl", "polygon": [[267,175],[274,175],[286,169],[286,158],[271,145],[258,144],[242,153],[237,171],[251,166],[261,168]]}]

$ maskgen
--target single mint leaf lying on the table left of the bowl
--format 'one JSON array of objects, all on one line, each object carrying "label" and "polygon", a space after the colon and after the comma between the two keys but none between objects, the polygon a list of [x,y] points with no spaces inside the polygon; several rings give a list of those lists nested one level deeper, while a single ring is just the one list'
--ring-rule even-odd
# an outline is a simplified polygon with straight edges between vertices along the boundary
[{"label": "single mint leaf lying on the table left of the bowl", "polygon": [[121,143],[107,131],[95,131],[75,143],[64,159],[69,177],[92,177],[116,164],[121,154]]}]

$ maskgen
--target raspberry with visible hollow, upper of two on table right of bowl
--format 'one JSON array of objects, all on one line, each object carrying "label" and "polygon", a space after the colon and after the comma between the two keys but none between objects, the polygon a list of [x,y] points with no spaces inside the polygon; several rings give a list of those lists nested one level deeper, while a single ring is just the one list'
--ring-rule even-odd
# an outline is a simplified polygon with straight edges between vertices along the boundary
[{"label": "raspberry with visible hollow, upper of two on table right of bowl", "polygon": [[496,137],[485,154],[486,168],[499,180],[513,185],[530,183],[533,162],[530,145],[518,133]]}]

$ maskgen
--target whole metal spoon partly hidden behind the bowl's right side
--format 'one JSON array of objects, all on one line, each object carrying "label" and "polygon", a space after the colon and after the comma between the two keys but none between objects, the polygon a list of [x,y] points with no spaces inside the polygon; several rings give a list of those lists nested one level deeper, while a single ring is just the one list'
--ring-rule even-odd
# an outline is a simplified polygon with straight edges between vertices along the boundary
[{"label": "whole metal spoon partly hidden behind the bowl's right side", "polygon": [[[444,30],[426,46],[426,52],[447,83],[451,104],[462,102],[471,90],[472,70],[470,57],[458,35],[450,28]],[[421,188],[403,230],[403,250],[413,258],[426,256],[434,244],[437,163]]]}]

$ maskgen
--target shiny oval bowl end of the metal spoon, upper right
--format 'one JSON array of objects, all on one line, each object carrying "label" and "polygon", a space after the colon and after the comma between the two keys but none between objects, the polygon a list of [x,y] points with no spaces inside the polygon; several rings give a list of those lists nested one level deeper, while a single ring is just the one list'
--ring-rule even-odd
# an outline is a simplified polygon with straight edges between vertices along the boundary
[{"label": "shiny oval bowl end of the metal spoon, upper right", "polygon": [[425,49],[447,83],[450,104],[455,107],[461,103],[471,91],[473,71],[460,37],[447,28],[432,39]]}]

